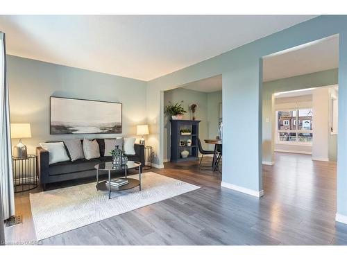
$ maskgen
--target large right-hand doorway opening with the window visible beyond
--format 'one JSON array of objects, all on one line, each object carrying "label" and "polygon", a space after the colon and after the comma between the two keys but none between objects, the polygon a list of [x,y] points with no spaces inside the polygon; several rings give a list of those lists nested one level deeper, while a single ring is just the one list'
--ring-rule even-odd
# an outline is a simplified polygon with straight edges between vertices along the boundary
[{"label": "large right-hand doorway opening with the window visible beyond", "polygon": [[338,67],[338,35],[263,58],[263,189],[279,208],[335,216]]}]

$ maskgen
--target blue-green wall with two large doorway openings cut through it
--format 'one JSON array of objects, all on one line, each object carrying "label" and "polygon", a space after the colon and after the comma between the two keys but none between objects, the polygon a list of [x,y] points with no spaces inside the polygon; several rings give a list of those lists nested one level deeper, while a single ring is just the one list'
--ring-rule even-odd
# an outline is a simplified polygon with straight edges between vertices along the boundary
[{"label": "blue-green wall with two large doorway openings cut through it", "polygon": [[[228,32],[226,32],[228,33]],[[347,16],[322,15],[147,83],[151,144],[163,158],[162,91],[222,75],[222,185],[262,195],[262,58],[339,35],[339,132],[347,131]],[[246,126],[245,126],[246,125]],[[347,216],[347,137],[338,137],[337,211]],[[266,191],[265,191],[266,192]]]}]

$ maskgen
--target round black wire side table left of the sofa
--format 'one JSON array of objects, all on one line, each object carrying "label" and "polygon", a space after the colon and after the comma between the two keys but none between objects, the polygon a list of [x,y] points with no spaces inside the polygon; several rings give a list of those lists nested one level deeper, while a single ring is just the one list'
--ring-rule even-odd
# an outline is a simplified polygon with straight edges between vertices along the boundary
[{"label": "round black wire side table left of the sofa", "polygon": [[12,156],[15,193],[30,191],[37,187],[36,159],[36,155],[28,155],[25,158]]}]

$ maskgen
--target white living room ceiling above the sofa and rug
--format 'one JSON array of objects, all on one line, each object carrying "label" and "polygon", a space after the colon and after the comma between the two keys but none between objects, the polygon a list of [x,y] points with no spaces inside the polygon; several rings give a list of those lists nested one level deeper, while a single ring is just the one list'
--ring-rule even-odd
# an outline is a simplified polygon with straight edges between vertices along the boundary
[{"label": "white living room ceiling above the sofa and rug", "polygon": [[151,80],[314,15],[0,16],[8,54]]}]

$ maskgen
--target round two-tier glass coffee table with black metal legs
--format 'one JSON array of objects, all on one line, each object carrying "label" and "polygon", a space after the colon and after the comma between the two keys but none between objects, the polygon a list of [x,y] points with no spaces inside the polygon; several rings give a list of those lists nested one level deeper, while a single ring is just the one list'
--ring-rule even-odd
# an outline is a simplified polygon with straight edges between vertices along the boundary
[{"label": "round two-tier glass coffee table with black metal legs", "polygon": [[[112,162],[102,162],[100,164],[96,164],[94,168],[96,168],[96,189],[98,191],[108,191],[108,198],[111,198],[111,191],[124,191],[126,189],[133,189],[137,186],[139,187],[139,190],[141,191],[141,163],[140,162],[128,161],[126,164],[120,165],[120,166],[115,166],[112,164]],[[131,169],[131,168],[139,168],[139,180],[136,180],[134,178],[128,178],[127,171],[128,169]],[[109,184],[106,184],[106,180],[99,182],[99,171],[108,171]],[[112,171],[114,172],[124,171],[124,175],[125,175],[124,179],[128,180],[128,184],[122,185],[120,187],[112,186],[110,183]]]}]

